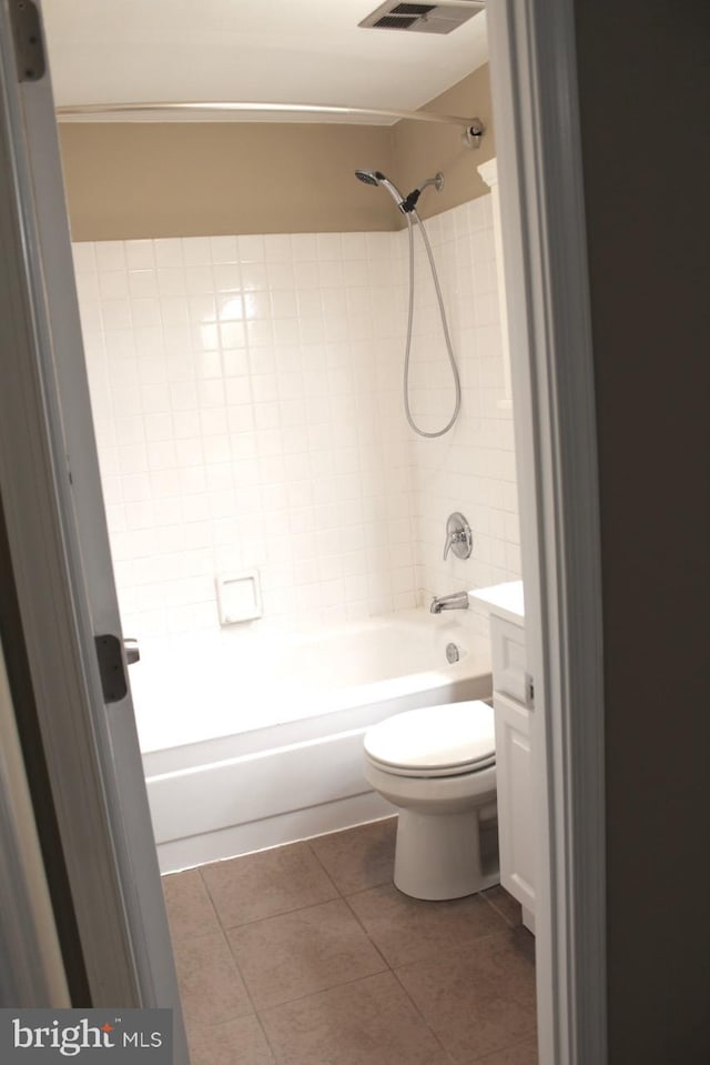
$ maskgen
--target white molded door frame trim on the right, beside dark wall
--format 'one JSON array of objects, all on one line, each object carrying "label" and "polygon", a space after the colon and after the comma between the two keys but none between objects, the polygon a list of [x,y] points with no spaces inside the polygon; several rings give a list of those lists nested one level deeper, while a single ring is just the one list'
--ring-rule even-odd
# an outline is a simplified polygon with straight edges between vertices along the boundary
[{"label": "white molded door frame trim on the right, beside dark wall", "polygon": [[601,545],[574,0],[487,8],[525,574],[540,1062],[601,1065]]}]

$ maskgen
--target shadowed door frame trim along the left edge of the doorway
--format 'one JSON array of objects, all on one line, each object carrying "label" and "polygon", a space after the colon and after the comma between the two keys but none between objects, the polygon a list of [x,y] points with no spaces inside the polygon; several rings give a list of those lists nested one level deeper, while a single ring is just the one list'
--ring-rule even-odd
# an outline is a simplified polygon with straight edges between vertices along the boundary
[{"label": "shadowed door frame trim along the left edge of the doorway", "polygon": [[[126,996],[128,1005],[136,1005],[92,734],[82,661],[87,649],[81,646],[77,629],[75,593],[65,553],[57,483],[61,474],[55,469],[57,448],[45,409],[43,378],[45,368],[52,365],[52,338],[43,302],[19,86],[13,83],[13,57],[8,54],[7,10],[0,10],[0,20],[4,20],[4,24],[0,22],[0,496],[21,624],[13,635],[24,644],[74,911],[78,920],[83,913],[85,922],[78,947],[90,985],[98,991],[101,967],[105,967],[102,957],[113,956],[114,1001]],[[18,712],[27,713],[24,701],[18,704]],[[92,841],[91,852],[87,838]],[[89,916],[99,900],[108,926],[103,934],[91,927],[98,921]],[[94,943],[97,954],[92,956]]]}]

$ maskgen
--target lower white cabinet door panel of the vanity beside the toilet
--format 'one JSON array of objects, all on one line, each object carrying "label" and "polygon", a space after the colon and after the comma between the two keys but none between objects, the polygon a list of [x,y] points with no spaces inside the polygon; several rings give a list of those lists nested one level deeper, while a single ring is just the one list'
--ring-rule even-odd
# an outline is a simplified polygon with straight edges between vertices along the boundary
[{"label": "lower white cabinet door panel of the vanity beside the toilet", "polygon": [[530,763],[530,711],[494,692],[500,883],[535,911],[535,821]]}]

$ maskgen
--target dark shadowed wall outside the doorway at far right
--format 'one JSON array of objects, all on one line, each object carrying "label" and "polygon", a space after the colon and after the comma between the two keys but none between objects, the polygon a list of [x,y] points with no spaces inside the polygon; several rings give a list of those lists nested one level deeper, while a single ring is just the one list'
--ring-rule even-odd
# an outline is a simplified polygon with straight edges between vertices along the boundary
[{"label": "dark shadowed wall outside the doorway at far right", "polygon": [[575,6],[601,494],[608,1059],[707,1065],[710,13]]}]

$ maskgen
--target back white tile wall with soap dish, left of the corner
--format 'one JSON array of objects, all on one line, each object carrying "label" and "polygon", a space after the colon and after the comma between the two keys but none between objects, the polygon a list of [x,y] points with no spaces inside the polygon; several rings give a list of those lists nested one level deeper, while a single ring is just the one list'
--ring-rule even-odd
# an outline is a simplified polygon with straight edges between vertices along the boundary
[{"label": "back white tile wall with soap dish, left of the corner", "polygon": [[125,630],[216,629],[215,574],[254,566],[265,624],[415,605],[394,234],[74,252]]}]

